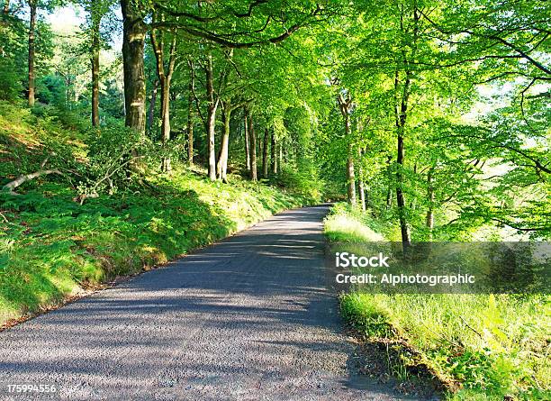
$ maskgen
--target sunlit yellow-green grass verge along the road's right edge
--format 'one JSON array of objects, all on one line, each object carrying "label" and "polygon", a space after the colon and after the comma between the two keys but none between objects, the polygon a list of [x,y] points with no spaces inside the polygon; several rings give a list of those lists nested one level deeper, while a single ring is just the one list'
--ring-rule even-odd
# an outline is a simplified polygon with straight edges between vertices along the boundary
[{"label": "sunlit yellow-green grass verge along the road's right edge", "polygon": [[[339,205],[326,220],[330,239],[378,241],[384,226]],[[403,348],[402,364],[426,365],[450,400],[550,399],[549,296],[369,294],[341,296],[357,333]]]}]

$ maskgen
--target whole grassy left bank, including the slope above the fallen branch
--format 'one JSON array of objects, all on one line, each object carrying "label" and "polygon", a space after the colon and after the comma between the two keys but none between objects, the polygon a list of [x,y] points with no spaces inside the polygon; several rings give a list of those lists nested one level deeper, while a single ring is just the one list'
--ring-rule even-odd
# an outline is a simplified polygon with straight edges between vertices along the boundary
[{"label": "whole grassy left bank, including the slope above the fallen branch", "polygon": [[[86,163],[83,135],[59,119],[1,104],[0,187],[41,169],[52,142]],[[211,182],[175,165],[171,176],[153,171],[140,185],[83,205],[66,176],[28,181],[17,196],[0,193],[0,325],[308,202],[239,176]]]}]

